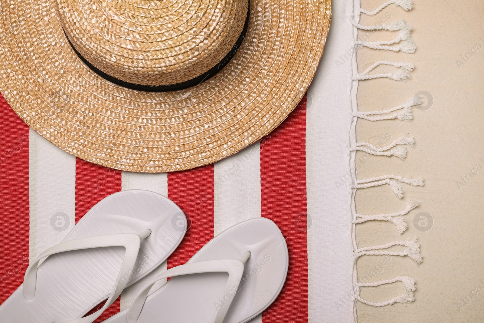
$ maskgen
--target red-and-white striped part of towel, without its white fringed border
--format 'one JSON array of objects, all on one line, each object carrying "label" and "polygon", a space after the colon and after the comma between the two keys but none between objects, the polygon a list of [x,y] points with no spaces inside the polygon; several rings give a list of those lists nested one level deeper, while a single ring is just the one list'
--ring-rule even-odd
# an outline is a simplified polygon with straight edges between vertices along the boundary
[{"label": "red-and-white striped part of towel, without its white fringed border", "polygon": [[[29,259],[61,242],[94,204],[124,189],[148,189],[173,200],[189,218],[190,229],[167,268],[185,263],[214,235],[244,219],[264,216],[277,223],[287,238],[289,271],[281,295],[259,321],[307,322],[305,107],[303,100],[270,136],[218,163],[138,174],[61,151],[33,132],[1,97],[0,302],[22,283]],[[56,221],[61,221],[58,226]],[[122,298],[96,322],[119,312]]]}]

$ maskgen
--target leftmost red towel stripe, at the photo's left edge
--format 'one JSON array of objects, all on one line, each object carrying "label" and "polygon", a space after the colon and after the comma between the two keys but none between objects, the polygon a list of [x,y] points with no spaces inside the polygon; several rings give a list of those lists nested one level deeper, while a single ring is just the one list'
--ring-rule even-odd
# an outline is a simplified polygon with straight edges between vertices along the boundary
[{"label": "leftmost red towel stripe, at the photo's left edge", "polygon": [[0,304],[29,265],[29,126],[0,94]]}]

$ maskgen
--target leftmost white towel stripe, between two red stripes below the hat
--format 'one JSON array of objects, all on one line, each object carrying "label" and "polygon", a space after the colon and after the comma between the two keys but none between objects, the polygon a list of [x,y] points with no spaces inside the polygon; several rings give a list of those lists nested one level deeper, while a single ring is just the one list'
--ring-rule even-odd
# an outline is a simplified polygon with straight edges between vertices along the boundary
[{"label": "leftmost white towel stripe, between two red stripes below the hat", "polygon": [[30,255],[35,259],[71,231],[76,222],[76,157],[30,128]]}]

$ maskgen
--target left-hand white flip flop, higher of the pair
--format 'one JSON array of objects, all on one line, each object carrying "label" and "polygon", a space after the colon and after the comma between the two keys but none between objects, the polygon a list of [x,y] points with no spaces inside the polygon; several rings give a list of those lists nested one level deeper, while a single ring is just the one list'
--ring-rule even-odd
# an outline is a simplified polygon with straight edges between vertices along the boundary
[{"label": "left-hand white flip flop, higher of the pair", "polygon": [[[181,209],[157,193],[127,190],[106,197],[63,242],[30,263],[24,283],[0,306],[0,321],[93,322],[123,288],[166,260],[186,223]],[[103,308],[83,317],[106,298]]]}]

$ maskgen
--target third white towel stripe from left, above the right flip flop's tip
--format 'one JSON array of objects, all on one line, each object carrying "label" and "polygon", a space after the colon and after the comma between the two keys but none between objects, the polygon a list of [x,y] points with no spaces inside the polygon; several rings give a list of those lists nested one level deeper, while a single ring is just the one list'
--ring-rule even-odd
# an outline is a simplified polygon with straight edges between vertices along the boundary
[{"label": "third white towel stripe from left, above the right flip flop's tip", "polygon": [[[213,165],[213,235],[246,219],[260,217],[260,142]],[[258,315],[250,323],[261,323]]]}]

